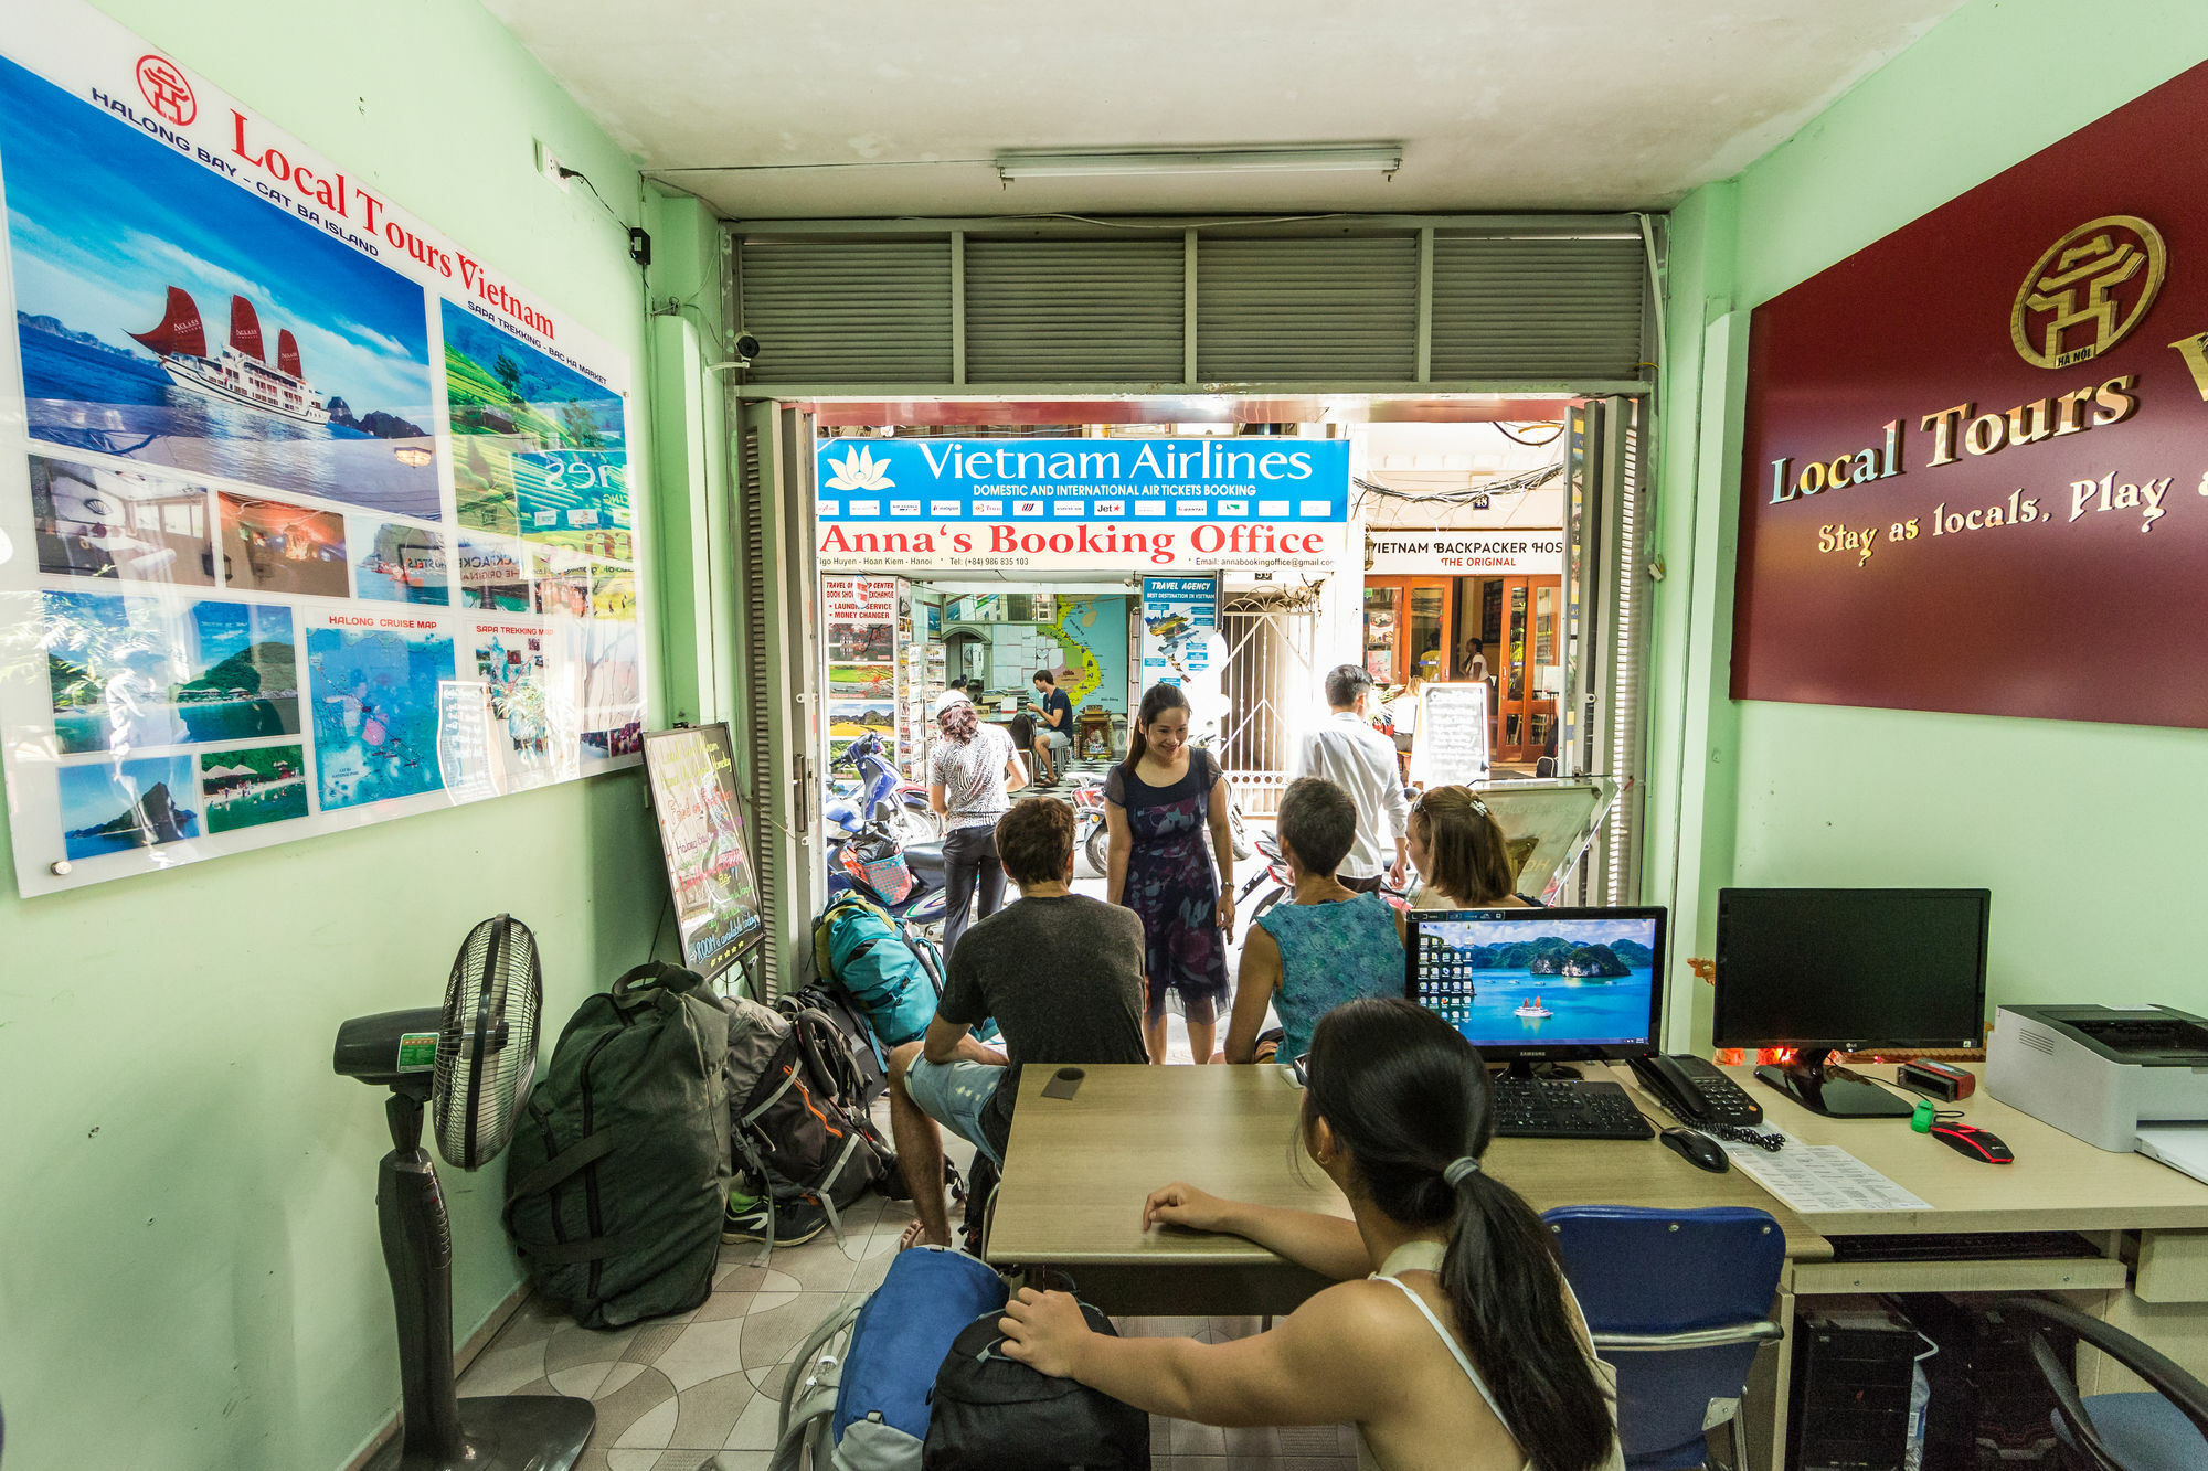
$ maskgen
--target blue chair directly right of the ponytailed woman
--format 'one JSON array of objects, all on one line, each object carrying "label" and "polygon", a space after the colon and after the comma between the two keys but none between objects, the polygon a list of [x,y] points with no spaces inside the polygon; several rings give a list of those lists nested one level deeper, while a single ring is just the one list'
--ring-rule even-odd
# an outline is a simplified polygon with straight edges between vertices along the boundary
[{"label": "blue chair directly right of the ponytailed woman", "polygon": [[1784,1336],[1771,1303],[1786,1235],[1762,1210],[1565,1206],[1541,1217],[1588,1314],[1594,1352],[1618,1372],[1627,1471],[1687,1471],[1724,1425],[1747,1467],[1740,1396],[1755,1350]]}]

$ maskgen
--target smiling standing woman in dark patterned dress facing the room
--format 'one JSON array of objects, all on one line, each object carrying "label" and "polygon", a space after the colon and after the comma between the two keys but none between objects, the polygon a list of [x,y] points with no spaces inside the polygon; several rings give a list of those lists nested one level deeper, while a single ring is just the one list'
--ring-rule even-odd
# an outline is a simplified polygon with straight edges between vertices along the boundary
[{"label": "smiling standing woman in dark patterned dress facing the room", "polygon": [[[1234,842],[1228,782],[1188,744],[1188,696],[1150,685],[1126,760],[1104,777],[1111,833],[1106,899],[1142,917],[1150,1060],[1166,1060],[1166,1003],[1188,1018],[1188,1049],[1208,1062],[1228,996],[1228,932],[1234,928]],[[1212,853],[1203,850],[1206,828]],[[1212,859],[1217,855],[1217,872]]]}]

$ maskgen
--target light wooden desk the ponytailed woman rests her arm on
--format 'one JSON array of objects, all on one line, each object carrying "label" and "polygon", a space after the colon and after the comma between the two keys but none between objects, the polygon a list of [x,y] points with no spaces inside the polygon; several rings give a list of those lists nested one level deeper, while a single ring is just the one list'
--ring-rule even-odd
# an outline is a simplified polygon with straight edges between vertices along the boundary
[{"label": "light wooden desk the ponytailed woman rests her arm on", "polygon": [[[1091,1067],[1073,1098],[1042,1098],[1051,1069],[1025,1069],[989,1261],[1060,1266],[1111,1312],[1287,1312],[1325,1285],[1241,1237],[1142,1228],[1142,1202],[1186,1179],[1212,1195],[1349,1215],[1303,1160],[1303,1091],[1276,1067]],[[1301,1171],[1296,1168],[1301,1162]],[[1753,1179],[1698,1171],[1654,1140],[1497,1140],[1486,1166],[1535,1210],[1577,1204],[1758,1206],[1786,1252],[1826,1261],[1830,1244]]]}]

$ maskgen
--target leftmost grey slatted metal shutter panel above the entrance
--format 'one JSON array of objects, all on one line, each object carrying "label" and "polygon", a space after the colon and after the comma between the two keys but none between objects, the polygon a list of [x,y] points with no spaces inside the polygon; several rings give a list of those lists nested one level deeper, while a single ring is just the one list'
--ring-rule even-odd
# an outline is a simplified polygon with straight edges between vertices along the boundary
[{"label": "leftmost grey slatted metal shutter panel above the entrance", "polygon": [[952,380],[952,243],[744,241],[749,382]]}]

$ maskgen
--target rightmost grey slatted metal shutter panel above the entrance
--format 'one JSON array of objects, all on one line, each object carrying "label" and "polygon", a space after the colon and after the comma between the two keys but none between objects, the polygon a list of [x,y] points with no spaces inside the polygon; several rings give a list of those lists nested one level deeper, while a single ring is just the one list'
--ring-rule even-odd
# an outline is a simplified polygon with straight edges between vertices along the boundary
[{"label": "rightmost grey slatted metal shutter panel above the entrance", "polygon": [[1433,239],[1433,378],[1641,375],[1638,239]]}]

